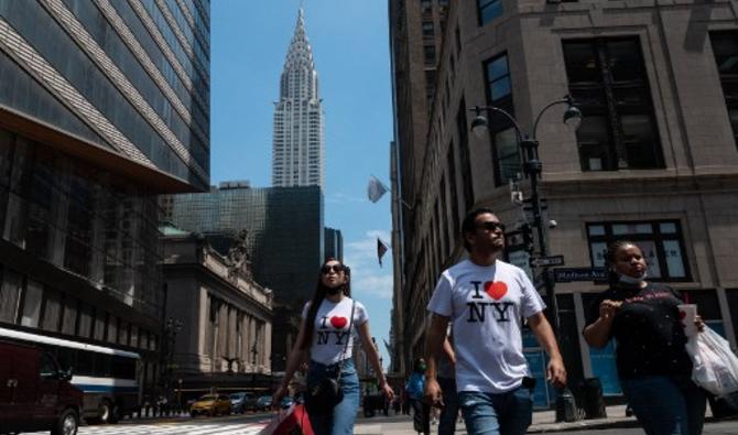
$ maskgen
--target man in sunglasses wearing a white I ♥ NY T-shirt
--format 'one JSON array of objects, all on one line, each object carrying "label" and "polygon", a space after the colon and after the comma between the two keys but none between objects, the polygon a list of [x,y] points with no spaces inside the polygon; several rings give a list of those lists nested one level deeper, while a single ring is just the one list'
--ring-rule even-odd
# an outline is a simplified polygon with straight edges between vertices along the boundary
[{"label": "man in sunglasses wearing a white I \u2665 NY T-shirt", "polygon": [[441,403],[436,361],[446,327],[454,329],[458,403],[469,435],[524,434],[531,424],[533,392],[523,356],[522,318],[549,354],[546,378],[566,384],[566,370],[545,304],[520,268],[498,260],[504,226],[487,208],[474,210],[462,225],[469,259],[445,270],[427,309],[425,395]]}]

